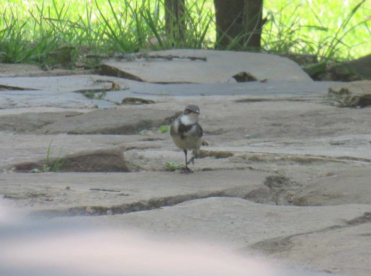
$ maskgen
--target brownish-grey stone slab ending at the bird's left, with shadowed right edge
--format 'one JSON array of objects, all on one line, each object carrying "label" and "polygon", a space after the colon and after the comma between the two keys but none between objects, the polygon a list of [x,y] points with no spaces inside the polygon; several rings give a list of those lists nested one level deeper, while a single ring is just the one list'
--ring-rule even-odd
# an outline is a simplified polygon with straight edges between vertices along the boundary
[{"label": "brownish-grey stone slab ending at the bird's left, with shadowed right edge", "polygon": [[0,116],[0,129],[23,134],[139,134],[171,124],[171,110],[137,110],[135,106],[91,112],[25,112]]}]

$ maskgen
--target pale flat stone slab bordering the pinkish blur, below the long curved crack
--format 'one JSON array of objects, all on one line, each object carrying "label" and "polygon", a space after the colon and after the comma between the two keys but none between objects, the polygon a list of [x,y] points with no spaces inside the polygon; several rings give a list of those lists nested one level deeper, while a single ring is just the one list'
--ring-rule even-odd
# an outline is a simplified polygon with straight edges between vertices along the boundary
[{"label": "pale flat stone slab bordering the pinkish blur, below the long curved crack", "polygon": [[[63,222],[86,222],[122,229],[162,233],[163,238],[203,240],[232,249],[242,249],[262,240],[301,235],[333,226],[370,212],[370,205],[298,207],[254,203],[241,198],[210,197],[161,207],[151,211],[113,216],[55,218]],[[172,235],[168,235],[172,233]],[[288,250],[287,246],[283,250]]]}]

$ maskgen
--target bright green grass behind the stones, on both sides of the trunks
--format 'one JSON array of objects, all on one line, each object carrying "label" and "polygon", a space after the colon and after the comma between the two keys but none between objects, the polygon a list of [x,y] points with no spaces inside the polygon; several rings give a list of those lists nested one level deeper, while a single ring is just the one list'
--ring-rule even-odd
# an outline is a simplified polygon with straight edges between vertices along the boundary
[{"label": "bright green grass behind the stones, on both sides of the trunks", "polygon": [[[0,0],[0,61],[48,63],[50,53],[75,47],[114,55],[169,48],[214,48],[211,0],[187,0],[184,39],[164,38],[162,0]],[[269,52],[317,54],[322,59],[357,58],[370,52],[370,0],[265,0],[262,42]],[[368,16],[368,17],[367,17]],[[157,41],[157,43],[150,43]]]}]

